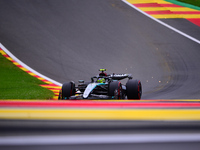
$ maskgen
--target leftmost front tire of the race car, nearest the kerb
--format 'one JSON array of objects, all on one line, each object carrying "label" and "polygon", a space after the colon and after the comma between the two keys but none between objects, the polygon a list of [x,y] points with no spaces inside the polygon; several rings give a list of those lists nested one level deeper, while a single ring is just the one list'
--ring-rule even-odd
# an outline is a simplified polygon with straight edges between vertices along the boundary
[{"label": "leftmost front tire of the race car, nearest the kerb", "polygon": [[75,83],[73,81],[64,83],[62,85],[62,99],[69,99],[72,95],[75,95]]}]

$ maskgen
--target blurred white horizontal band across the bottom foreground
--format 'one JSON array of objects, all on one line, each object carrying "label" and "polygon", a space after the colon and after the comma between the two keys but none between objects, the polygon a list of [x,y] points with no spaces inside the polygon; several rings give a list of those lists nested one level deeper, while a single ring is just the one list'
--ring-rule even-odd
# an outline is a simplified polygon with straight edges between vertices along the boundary
[{"label": "blurred white horizontal band across the bottom foreground", "polygon": [[200,142],[200,133],[4,136],[3,145]]}]

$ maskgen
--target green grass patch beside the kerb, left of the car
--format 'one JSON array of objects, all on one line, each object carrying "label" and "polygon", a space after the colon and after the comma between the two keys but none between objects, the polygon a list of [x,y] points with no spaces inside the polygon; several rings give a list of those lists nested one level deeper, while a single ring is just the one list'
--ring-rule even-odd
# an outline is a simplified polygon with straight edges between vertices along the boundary
[{"label": "green grass patch beside the kerb, left of the car", "polygon": [[19,69],[0,54],[0,99],[49,99],[54,93],[44,82]]}]

